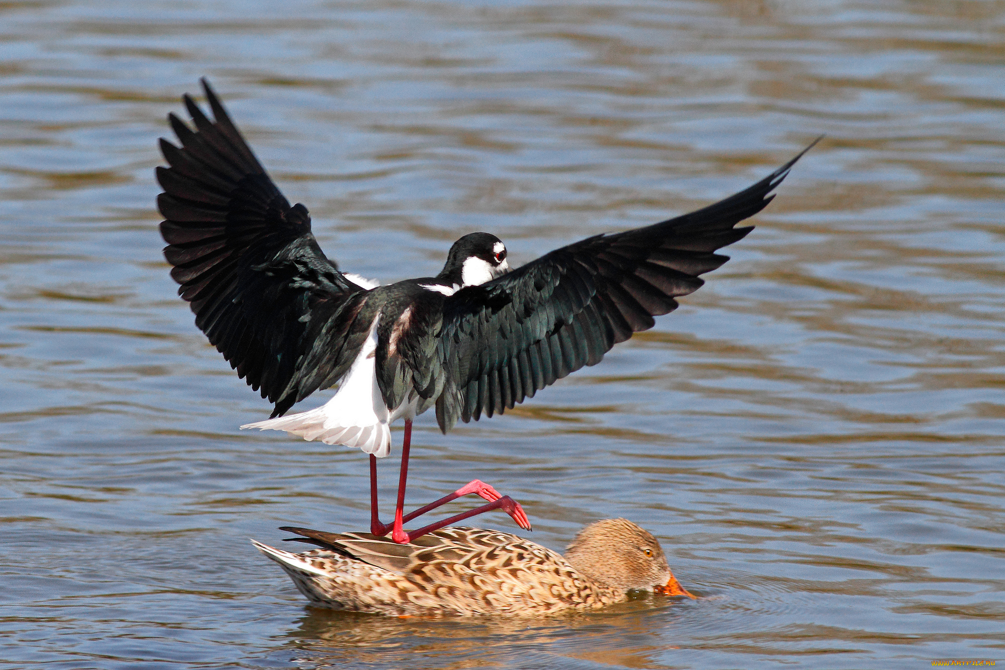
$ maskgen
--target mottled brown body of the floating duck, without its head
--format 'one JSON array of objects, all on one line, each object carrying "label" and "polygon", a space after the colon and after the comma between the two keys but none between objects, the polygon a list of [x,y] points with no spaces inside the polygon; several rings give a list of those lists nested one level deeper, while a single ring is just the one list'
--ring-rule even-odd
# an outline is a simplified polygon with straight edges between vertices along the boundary
[{"label": "mottled brown body of the floating duck, without its head", "polygon": [[370,533],[285,528],[322,548],[255,543],[313,603],[390,615],[548,614],[620,600],[561,554],[510,533],[443,528],[397,544]]}]

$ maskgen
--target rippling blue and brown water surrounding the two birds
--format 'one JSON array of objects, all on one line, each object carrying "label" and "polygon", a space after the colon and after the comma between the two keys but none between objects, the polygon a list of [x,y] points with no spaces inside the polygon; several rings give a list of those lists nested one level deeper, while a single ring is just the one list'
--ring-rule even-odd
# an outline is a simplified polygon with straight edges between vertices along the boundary
[{"label": "rippling blue and brown water surrounding the two birds", "polygon": [[[0,36],[0,666],[1005,658],[1005,2],[42,0]],[[625,516],[705,598],[305,607],[247,537],[366,527],[366,460],[238,432],[269,406],[175,297],[155,142],[201,75],[385,281],[472,230],[521,261],[660,220],[827,134],[656,328],[505,417],[416,424],[411,501],[481,477],[554,548]]]}]

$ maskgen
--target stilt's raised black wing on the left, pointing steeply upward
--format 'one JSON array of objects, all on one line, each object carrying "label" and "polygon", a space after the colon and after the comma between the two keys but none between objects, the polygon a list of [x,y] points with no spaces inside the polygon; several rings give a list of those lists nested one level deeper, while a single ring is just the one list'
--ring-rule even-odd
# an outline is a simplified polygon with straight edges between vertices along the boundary
[{"label": "stilt's raised black wing on the left, pointing steeply upward", "polygon": [[348,372],[370,329],[367,291],[325,256],[307,208],[289,206],[202,84],[214,120],[185,95],[195,130],[172,114],[182,146],[161,140],[164,255],[196,325],[279,416]]}]

